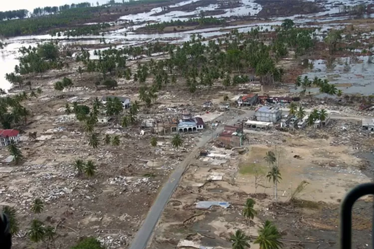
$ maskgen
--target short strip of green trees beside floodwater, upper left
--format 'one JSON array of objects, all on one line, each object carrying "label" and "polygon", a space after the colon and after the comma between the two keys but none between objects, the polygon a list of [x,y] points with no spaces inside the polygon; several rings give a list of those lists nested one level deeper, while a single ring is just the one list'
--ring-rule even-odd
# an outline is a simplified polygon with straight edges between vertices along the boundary
[{"label": "short strip of green trees beside floodwater, upper left", "polygon": [[110,24],[107,22],[101,23],[101,24],[92,24],[92,25],[83,25],[79,27],[75,27],[73,29],[68,28],[59,28],[59,29],[53,29],[49,31],[49,34],[51,36],[58,36],[65,35],[67,37],[74,37],[74,36],[80,36],[80,35],[99,35],[101,30],[106,29],[110,27]]}]

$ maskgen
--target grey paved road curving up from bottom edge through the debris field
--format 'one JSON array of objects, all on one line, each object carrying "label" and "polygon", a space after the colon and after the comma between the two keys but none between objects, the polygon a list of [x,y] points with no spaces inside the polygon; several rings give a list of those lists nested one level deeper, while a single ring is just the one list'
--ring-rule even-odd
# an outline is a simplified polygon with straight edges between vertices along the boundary
[{"label": "grey paved road curving up from bottom edge through the debris field", "polygon": [[[245,110],[242,110],[242,111],[245,111]],[[247,118],[251,114],[252,112],[249,111],[246,114],[243,114],[231,120],[227,124],[228,125],[235,124],[238,119]],[[132,241],[130,249],[147,248],[147,244],[148,244],[149,239],[151,238],[153,229],[155,228],[162,212],[164,211],[165,205],[168,203],[170,197],[172,196],[174,189],[177,187],[179,181],[181,180],[181,177],[183,173],[185,172],[187,165],[190,163],[192,159],[194,159],[199,149],[202,146],[204,146],[205,143],[207,143],[213,136],[215,136],[222,130],[223,130],[223,125],[221,127],[218,127],[212,133],[206,132],[206,134],[204,134],[201,137],[200,141],[196,144],[195,148],[189,153],[186,159],[174,170],[168,182],[165,183],[159,196],[157,197],[156,201],[151,207],[151,210],[148,212],[147,218],[144,220],[142,227],[139,229],[134,240]]]}]

